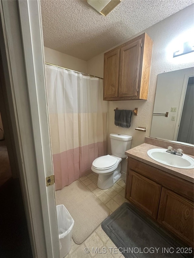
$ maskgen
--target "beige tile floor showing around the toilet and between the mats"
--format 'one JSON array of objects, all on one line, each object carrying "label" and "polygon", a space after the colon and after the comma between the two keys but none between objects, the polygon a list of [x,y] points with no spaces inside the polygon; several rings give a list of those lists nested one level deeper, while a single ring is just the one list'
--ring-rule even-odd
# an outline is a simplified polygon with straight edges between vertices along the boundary
[{"label": "beige tile floor showing around the toilet and between the mats", "polygon": [[[90,173],[79,179],[83,185],[85,185],[99,200],[101,200],[110,210],[110,214],[115,211],[125,201],[125,177],[121,178],[109,189],[101,190],[97,187],[98,175]],[[90,253],[85,253],[84,249],[88,247]],[[92,253],[92,247],[99,248],[98,253]],[[102,249],[104,248],[104,249]],[[115,248],[115,251],[114,249]],[[100,253],[105,252],[106,253]],[[97,227],[94,232],[81,244],[77,245],[72,240],[72,247],[65,258],[82,258],[82,257],[94,257],[94,258],[122,258],[121,253],[116,253],[117,248],[107,234],[102,230],[101,225]]]}]

